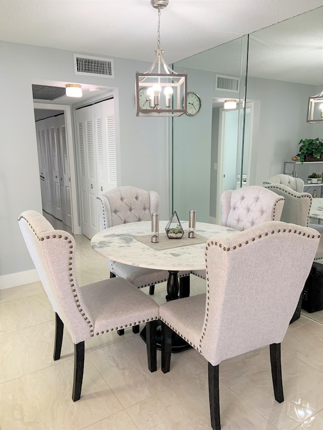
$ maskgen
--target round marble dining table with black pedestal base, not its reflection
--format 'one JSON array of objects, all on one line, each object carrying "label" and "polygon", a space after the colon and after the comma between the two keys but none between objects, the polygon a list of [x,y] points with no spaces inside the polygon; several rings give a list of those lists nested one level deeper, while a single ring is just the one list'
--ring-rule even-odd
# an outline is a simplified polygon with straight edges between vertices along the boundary
[{"label": "round marble dining table with black pedestal base, not its reflection", "polygon": [[[237,230],[216,224],[196,222],[196,237],[188,238],[188,221],[181,221],[184,235],[181,239],[169,239],[165,232],[168,221],[159,221],[159,242],[151,242],[151,221],[131,222],[115,225],[95,234],[91,239],[92,249],[101,256],[131,266],[168,270],[166,300],[179,298],[179,271],[205,269],[204,248],[207,239],[216,236],[226,238]],[[197,243],[198,242],[198,243]],[[183,282],[181,297],[189,295],[189,276]],[[160,349],[161,333],[157,327],[157,348]],[[145,341],[145,327],[140,333]],[[172,336],[172,352],[181,352],[191,346],[176,333]]]}]

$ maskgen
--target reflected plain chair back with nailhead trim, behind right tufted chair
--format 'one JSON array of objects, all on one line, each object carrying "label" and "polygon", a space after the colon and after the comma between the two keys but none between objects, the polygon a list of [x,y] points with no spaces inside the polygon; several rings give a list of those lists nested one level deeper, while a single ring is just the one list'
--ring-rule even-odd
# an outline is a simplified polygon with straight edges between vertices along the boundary
[{"label": "reflected plain chair back with nailhead trim, behind right tufted chair", "polygon": [[308,227],[309,211],[312,205],[312,196],[309,193],[297,193],[286,185],[276,183],[265,185],[264,188],[284,197],[285,203],[281,221]]}]

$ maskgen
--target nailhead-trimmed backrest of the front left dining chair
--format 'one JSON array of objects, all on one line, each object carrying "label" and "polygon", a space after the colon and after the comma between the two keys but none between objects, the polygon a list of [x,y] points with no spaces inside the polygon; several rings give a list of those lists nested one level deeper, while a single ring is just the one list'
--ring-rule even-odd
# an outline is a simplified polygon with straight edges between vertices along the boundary
[{"label": "nailhead-trimmed backrest of the front left dining chair", "polygon": [[66,231],[55,230],[36,211],[23,212],[19,226],[52,308],[60,315],[73,342],[90,338],[87,321],[93,318],[76,279],[73,236]]}]

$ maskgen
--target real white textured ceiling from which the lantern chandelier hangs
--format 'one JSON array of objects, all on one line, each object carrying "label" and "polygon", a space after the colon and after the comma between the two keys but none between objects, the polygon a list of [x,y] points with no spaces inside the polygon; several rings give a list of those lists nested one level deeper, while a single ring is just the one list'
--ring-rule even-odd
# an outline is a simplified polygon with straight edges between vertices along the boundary
[{"label": "real white textured ceiling from which the lantern chandelier hangs", "polygon": [[[322,6],[322,0],[170,0],[160,40],[168,63]],[[149,0],[1,0],[0,39],[151,62]]]}]

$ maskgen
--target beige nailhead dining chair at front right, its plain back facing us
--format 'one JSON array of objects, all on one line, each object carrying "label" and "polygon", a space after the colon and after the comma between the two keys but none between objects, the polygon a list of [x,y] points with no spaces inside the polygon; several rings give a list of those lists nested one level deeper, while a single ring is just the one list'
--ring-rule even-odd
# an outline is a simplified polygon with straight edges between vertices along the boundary
[{"label": "beige nailhead dining chair at front right, its plain back facing us", "polygon": [[221,428],[219,364],[228,358],[270,345],[275,399],[284,401],[281,342],[319,237],[314,229],[282,221],[212,237],[205,245],[206,294],[159,306],[161,370],[170,371],[173,330],[208,361],[213,429]]}]

